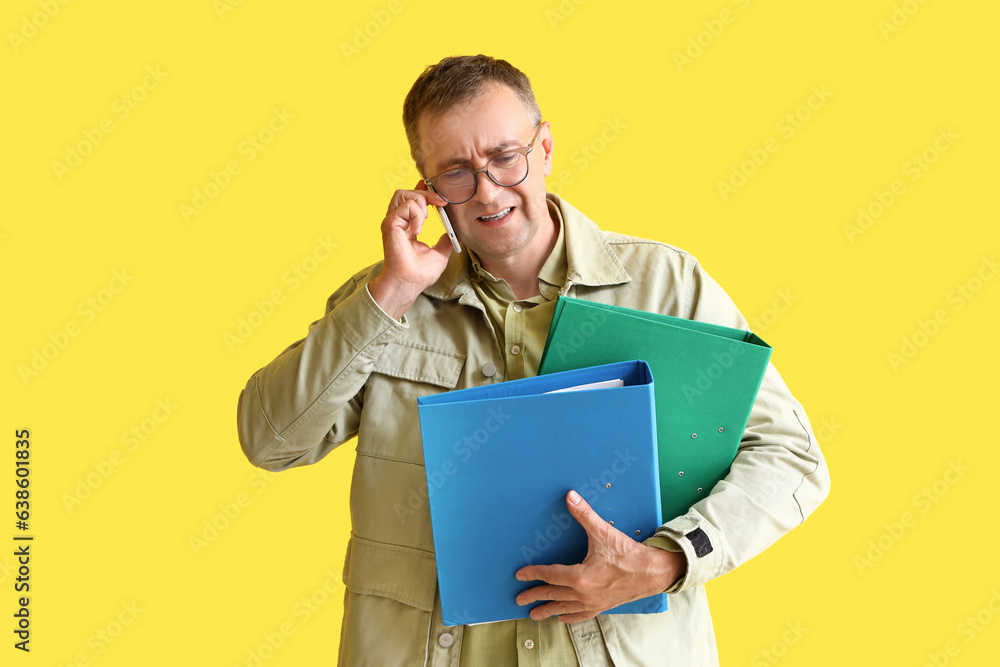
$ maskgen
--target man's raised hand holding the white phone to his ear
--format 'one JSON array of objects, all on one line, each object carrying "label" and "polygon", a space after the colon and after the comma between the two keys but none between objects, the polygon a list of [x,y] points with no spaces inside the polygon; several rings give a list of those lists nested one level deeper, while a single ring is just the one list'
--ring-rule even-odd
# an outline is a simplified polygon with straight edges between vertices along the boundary
[{"label": "man's raised hand holding the white phone to his ear", "polygon": [[375,303],[391,317],[402,317],[417,296],[441,277],[448,265],[453,249],[448,231],[433,247],[417,240],[427,220],[428,207],[443,207],[447,203],[436,192],[428,191],[423,181],[413,190],[396,190],[392,195],[382,220],[385,264],[382,273],[368,284]]}]

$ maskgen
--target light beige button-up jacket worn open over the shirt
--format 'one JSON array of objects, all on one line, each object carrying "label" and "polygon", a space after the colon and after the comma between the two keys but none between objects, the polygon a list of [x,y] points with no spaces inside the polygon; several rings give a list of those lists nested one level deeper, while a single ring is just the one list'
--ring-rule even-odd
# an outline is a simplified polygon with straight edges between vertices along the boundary
[{"label": "light beige button-up jacket worn open over the shirt", "polygon": [[[565,222],[569,296],[748,328],[691,255],[603,232],[549,197]],[[459,664],[462,628],[443,627],[437,606],[416,399],[504,375],[504,354],[467,261],[452,255],[402,321],[382,312],[365,288],[381,263],[361,271],[330,297],[308,336],[257,371],[240,395],[240,443],[250,462],[267,470],[315,463],[358,436],[341,664]],[[498,369],[492,377],[487,364]],[[605,664],[606,643],[619,667],[717,665],[704,584],[801,523],[828,490],[805,412],[769,366],[729,475],[657,531],[688,560],[669,610],[572,626],[580,664]]]}]

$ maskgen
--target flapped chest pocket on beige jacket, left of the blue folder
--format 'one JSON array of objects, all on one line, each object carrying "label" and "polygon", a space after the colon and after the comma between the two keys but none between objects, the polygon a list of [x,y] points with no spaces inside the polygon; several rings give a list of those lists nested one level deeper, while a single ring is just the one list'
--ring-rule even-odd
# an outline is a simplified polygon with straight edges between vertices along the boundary
[{"label": "flapped chest pocket on beige jacket, left of the blue folder", "polygon": [[423,465],[417,399],[454,389],[465,355],[426,345],[392,343],[365,386],[358,454]]}]

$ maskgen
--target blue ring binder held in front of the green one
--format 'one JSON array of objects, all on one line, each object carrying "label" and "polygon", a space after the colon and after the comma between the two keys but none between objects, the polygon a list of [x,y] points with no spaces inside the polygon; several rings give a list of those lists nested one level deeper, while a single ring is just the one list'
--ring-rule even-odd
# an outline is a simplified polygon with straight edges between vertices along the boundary
[{"label": "blue ring binder held in front of the green one", "polygon": [[[612,379],[624,386],[546,393]],[[645,361],[460,389],[417,404],[445,625],[528,618],[532,606],[514,599],[543,582],[514,573],[583,560],[587,534],[566,509],[570,489],[637,541],[661,524]],[[661,593],[610,612],[666,608]]]}]

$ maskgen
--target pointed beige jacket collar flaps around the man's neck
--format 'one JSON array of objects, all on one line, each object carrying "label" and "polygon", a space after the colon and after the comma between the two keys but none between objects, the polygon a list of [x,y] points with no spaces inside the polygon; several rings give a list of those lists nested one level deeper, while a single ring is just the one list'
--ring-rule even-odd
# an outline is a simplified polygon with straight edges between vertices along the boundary
[{"label": "pointed beige jacket collar flaps around the man's neck", "polygon": [[[615,255],[604,232],[587,216],[554,194],[546,194],[550,213],[560,222],[559,237],[555,247],[538,277],[543,281],[543,294],[547,285],[560,288],[567,283],[600,286],[619,285],[632,280]],[[456,299],[472,290],[471,280],[490,276],[482,268],[474,253],[468,248],[460,254],[452,253],[448,266],[437,281],[424,290],[424,294],[437,299]]]}]

